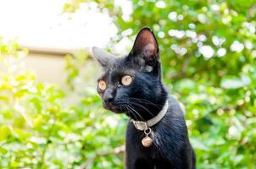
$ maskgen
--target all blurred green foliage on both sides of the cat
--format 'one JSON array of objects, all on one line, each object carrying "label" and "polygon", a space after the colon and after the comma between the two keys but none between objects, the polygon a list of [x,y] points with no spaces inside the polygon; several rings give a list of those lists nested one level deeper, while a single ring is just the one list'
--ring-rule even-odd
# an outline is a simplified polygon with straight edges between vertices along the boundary
[{"label": "all blurred green foliage on both sides of the cat", "polygon": [[[92,3],[74,0],[64,10],[75,12],[82,2]],[[120,30],[109,48],[153,28],[164,82],[186,106],[198,168],[255,168],[254,1],[136,0],[128,17],[113,1],[96,3]],[[103,111],[89,54],[66,57],[68,85],[82,95],[66,106],[70,93],[37,82],[18,49],[0,41],[0,167],[122,168],[125,117]]]}]

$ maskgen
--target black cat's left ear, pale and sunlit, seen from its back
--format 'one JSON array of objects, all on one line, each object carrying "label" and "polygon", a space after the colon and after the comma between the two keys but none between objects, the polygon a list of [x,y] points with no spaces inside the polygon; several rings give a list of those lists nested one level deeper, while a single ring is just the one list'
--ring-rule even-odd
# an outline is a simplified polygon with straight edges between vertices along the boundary
[{"label": "black cat's left ear, pale and sunlit, seen from its back", "polygon": [[92,47],[92,54],[103,67],[107,67],[114,60],[114,55],[96,46]]}]

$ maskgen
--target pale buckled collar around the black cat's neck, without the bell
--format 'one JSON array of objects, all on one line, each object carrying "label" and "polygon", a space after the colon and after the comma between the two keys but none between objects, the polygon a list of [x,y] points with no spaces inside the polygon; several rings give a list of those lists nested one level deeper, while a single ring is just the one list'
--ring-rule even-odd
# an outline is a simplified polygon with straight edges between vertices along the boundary
[{"label": "pale buckled collar around the black cat's neck, without the bell", "polygon": [[163,106],[163,109],[159,112],[159,114],[149,120],[147,120],[147,122],[142,122],[142,121],[135,121],[133,119],[131,119],[131,122],[133,123],[134,127],[137,128],[138,130],[144,131],[147,128],[152,127],[153,125],[157,124],[160,122],[160,120],[162,120],[162,118],[164,117],[164,115],[166,114],[167,110],[168,110],[169,104],[168,104],[168,100],[165,101],[165,104]]}]

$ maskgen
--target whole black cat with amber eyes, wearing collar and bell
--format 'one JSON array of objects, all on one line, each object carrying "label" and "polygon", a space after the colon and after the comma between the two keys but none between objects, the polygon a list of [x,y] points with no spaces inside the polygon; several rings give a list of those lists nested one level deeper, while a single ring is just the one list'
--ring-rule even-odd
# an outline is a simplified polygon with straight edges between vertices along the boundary
[{"label": "whole black cat with amber eyes, wearing collar and bell", "polygon": [[158,42],[143,28],[125,57],[93,47],[103,66],[97,92],[103,106],[131,117],[126,131],[125,168],[196,168],[184,114],[161,77]]}]

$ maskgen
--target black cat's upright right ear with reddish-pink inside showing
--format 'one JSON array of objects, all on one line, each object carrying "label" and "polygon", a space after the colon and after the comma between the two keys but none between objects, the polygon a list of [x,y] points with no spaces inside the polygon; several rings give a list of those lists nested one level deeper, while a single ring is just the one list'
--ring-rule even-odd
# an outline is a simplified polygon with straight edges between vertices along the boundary
[{"label": "black cat's upright right ear with reddish-pink inside showing", "polygon": [[159,45],[153,31],[145,27],[136,35],[131,55],[141,55],[144,59],[152,61],[159,59]]}]

